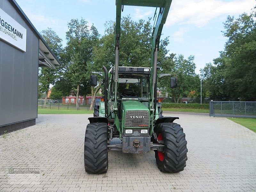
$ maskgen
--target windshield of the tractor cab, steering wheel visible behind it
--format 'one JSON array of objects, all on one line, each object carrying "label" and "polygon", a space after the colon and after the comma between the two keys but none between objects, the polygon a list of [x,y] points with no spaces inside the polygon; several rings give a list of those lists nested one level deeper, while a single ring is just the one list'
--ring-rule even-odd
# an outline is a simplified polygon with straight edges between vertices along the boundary
[{"label": "windshield of the tractor cab, steering wheel visible behind it", "polygon": [[122,98],[148,98],[148,75],[119,75],[118,97]]}]

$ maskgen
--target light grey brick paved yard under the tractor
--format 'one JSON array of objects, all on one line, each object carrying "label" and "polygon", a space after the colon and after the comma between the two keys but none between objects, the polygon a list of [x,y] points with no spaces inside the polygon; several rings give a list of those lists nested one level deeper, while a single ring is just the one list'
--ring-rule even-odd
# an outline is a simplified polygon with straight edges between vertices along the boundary
[{"label": "light grey brick paved yard under the tractor", "polygon": [[153,151],[111,151],[108,173],[90,175],[83,159],[88,116],[39,115],[35,126],[0,136],[0,191],[256,191],[256,134],[226,118],[178,115],[188,140],[183,172],[160,172]]}]

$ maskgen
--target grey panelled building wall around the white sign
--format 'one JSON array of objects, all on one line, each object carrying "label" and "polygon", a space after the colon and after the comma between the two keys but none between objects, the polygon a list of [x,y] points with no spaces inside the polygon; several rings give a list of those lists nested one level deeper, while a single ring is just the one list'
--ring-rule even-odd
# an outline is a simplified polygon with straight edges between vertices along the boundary
[{"label": "grey panelled building wall around the white sign", "polygon": [[27,29],[27,50],[0,40],[0,126],[37,117],[39,39],[8,0],[0,8]]}]

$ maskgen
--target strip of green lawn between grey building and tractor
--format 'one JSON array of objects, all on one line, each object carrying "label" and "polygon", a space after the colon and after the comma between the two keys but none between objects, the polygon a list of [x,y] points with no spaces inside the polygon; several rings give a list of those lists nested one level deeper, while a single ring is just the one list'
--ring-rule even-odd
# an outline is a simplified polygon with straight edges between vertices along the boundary
[{"label": "strip of green lawn between grey building and tractor", "polygon": [[76,110],[76,108],[70,109],[50,109],[50,108],[38,108],[38,114],[93,114],[93,111],[84,109]]}]

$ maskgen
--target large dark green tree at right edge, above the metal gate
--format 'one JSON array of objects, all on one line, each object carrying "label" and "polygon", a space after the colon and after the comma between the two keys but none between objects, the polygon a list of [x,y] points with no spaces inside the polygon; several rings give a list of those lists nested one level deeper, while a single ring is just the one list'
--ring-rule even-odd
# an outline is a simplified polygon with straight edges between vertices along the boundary
[{"label": "large dark green tree at right edge, above the metal gate", "polygon": [[214,64],[223,72],[225,93],[232,100],[255,100],[256,95],[256,7],[238,19],[228,16],[224,23],[228,37],[225,50]]}]

